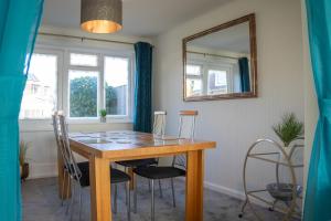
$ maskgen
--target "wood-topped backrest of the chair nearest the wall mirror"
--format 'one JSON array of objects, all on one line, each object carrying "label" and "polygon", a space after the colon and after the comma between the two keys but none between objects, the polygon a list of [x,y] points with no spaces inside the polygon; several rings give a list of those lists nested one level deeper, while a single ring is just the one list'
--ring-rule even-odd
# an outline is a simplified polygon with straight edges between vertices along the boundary
[{"label": "wood-topped backrest of the chair nearest the wall mirror", "polygon": [[[179,138],[194,139],[195,119],[197,110],[181,110],[180,123],[179,123]],[[186,169],[186,157],[185,155],[174,156],[172,159],[173,167],[180,167]]]}]

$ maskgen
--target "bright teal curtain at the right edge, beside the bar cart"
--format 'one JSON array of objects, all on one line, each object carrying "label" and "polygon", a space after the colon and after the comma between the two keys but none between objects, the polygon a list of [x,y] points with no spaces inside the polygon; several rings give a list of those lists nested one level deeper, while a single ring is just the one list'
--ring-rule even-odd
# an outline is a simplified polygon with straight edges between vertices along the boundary
[{"label": "bright teal curtain at the right edge, beside the bar cart", "polygon": [[311,152],[305,221],[331,220],[331,1],[306,0],[320,118]]}]

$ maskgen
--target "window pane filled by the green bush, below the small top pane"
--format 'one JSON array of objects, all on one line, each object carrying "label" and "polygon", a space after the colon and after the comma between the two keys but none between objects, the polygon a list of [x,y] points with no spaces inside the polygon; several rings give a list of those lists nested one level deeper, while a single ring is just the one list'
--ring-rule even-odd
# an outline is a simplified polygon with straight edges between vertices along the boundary
[{"label": "window pane filled by the green bush, below the small top pane", "polygon": [[98,72],[70,70],[70,117],[97,117]]}]

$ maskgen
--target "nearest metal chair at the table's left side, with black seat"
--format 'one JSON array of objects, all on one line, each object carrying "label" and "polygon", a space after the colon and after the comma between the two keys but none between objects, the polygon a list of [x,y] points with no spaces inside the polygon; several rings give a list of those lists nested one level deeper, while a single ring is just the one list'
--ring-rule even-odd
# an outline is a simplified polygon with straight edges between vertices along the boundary
[{"label": "nearest metal chair at the table's left side, with black seat", "polygon": [[[62,156],[64,161],[64,170],[67,173],[71,182],[72,182],[72,200],[67,206],[67,211],[71,210],[70,219],[73,219],[73,211],[74,211],[74,198],[75,198],[75,187],[74,185],[78,186],[78,215],[79,220],[82,217],[82,189],[85,187],[89,187],[89,162],[77,162],[75,156],[70,148],[70,140],[68,140],[68,130],[67,124],[65,120],[65,116],[63,114],[54,114],[54,127],[58,128],[56,135],[60,141],[60,147],[62,148]],[[60,125],[60,126],[58,126]],[[127,185],[127,215],[128,220],[130,221],[130,190],[129,190],[129,181],[130,176],[126,172],[113,168],[110,165],[110,183],[115,186],[114,192],[114,212],[117,212],[117,183],[126,183]],[[63,188],[64,189],[64,188]]]}]

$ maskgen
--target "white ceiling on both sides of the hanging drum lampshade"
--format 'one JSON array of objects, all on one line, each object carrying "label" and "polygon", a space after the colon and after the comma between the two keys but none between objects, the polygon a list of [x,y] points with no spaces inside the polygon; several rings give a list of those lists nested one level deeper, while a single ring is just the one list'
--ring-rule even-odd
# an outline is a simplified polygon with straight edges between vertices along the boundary
[{"label": "white ceiling on both sides of the hanging drum lampshade", "polygon": [[[122,34],[154,36],[231,0],[124,0]],[[43,24],[79,29],[81,0],[45,0]]]}]

